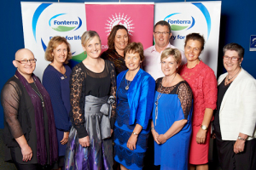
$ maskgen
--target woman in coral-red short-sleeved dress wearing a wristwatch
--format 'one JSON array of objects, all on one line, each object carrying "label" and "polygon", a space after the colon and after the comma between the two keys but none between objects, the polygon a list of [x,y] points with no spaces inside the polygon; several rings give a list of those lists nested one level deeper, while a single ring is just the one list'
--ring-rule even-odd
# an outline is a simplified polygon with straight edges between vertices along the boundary
[{"label": "woman in coral-red short-sleeved dress wearing a wristwatch", "polygon": [[210,122],[217,101],[217,80],[214,72],[199,59],[204,44],[204,37],[200,34],[187,35],[184,53],[188,63],[180,70],[181,77],[192,88],[194,97],[189,169],[208,169]]}]

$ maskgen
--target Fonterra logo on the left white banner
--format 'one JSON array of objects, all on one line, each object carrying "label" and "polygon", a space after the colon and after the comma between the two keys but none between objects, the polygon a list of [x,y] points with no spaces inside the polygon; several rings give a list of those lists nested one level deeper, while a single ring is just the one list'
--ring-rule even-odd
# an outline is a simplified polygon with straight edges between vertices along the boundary
[{"label": "Fonterra logo on the left white banner", "polygon": [[82,26],[82,20],[68,14],[56,14],[49,19],[49,26],[55,31],[76,31]]}]

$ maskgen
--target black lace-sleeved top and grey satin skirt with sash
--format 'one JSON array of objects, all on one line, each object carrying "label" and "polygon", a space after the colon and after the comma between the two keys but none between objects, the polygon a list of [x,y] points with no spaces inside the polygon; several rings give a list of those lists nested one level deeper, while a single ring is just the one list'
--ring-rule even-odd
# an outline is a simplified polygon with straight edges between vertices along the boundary
[{"label": "black lace-sleeved top and grey satin skirt with sash", "polygon": [[[73,127],[67,143],[65,169],[112,169],[113,144],[109,139],[109,118],[113,128],[116,105],[114,66],[105,60],[104,71],[95,73],[81,62],[73,68],[70,82],[70,117]],[[108,126],[104,127],[106,124]],[[82,147],[79,139],[87,135],[90,146]]]}]

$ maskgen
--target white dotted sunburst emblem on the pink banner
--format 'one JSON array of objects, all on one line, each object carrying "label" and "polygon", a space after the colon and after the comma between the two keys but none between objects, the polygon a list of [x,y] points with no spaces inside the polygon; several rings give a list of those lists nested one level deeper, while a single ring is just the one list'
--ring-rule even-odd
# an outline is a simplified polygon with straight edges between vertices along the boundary
[{"label": "white dotted sunburst emblem on the pink banner", "polygon": [[[132,23],[132,20],[131,20],[131,17],[128,16],[127,14],[112,14],[111,17],[108,17],[109,20],[107,20],[108,23],[106,23],[106,26],[105,29],[107,29],[106,32],[108,32],[108,35],[110,34],[113,26],[116,26],[116,25],[123,25],[125,26],[125,28],[127,29],[129,35],[132,36],[132,32],[133,29],[135,28]],[[107,35],[107,36],[108,36]]]}]

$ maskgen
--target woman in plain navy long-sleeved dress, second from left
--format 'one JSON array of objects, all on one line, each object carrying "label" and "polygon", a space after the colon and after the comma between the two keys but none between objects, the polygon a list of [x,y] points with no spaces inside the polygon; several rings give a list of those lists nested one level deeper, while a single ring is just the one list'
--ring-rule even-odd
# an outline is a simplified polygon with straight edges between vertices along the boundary
[{"label": "woman in plain navy long-sleeved dress, second from left", "polygon": [[55,115],[59,161],[58,167],[54,167],[54,169],[59,168],[59,170],[64,166],[67,139],[71,128],[69,120],[71,69],[66,65],[71,57],[70,46],[65,37],[57,36],[49,40],[45,51],[45,59],[51,63],[44,70],[43,85],[49,93]]}]

